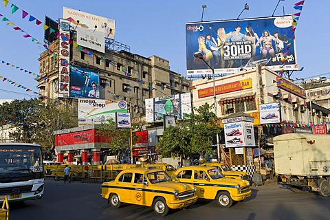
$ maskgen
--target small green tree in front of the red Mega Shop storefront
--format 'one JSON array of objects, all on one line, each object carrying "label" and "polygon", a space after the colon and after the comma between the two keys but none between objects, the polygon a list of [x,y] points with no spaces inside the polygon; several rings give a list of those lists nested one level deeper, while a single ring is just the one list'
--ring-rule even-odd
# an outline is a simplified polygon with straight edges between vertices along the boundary
[{"label": "small green tree in front of the red Mega Shop storefront", "polygon": [[[131,124],[132,131],[141,130],[139,124]],[[111,118],[107,123],[102,123],[102,127],[98,129],[98,133],[106,137],[106,143],[100,143],[102,148],[108,148],[109,154],[120,155],[123,150],[130,149],[131,129],[118,129],[115,121]],[[133,143],[137,140],[137,136],[132,132]]]}]

